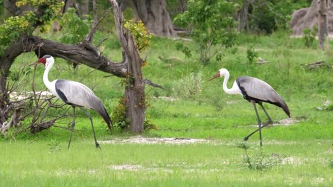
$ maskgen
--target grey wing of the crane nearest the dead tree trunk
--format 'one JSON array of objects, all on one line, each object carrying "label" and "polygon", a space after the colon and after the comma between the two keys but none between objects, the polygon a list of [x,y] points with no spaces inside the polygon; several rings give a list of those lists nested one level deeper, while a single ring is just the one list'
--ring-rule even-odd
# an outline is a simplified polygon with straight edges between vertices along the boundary
[{"label": "grey wing of the crane nearest the dead tree trunk", "polygon": [[56,92],[58,96],[69,105],[76,105],[86,107],[88,109],[94,109],[104,118],[104,121],[108,123],[111,130],[111,119],[106,112],[101,100],[95,96],[91,89],[80,82],[71,80],[57,80]]}]

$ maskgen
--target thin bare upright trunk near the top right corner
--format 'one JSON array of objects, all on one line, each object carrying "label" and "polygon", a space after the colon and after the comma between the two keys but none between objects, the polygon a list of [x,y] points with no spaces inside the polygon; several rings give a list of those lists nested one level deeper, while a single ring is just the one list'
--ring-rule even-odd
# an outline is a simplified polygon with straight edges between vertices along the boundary
[{"label": "thin bare upright trunk near the top right corner", "polygon": [[317,1],[317,20],[318,20],[318,47],[324,49],[325,36],[328,35],[327,28],[327,10],[328,4],[327,0]]}]

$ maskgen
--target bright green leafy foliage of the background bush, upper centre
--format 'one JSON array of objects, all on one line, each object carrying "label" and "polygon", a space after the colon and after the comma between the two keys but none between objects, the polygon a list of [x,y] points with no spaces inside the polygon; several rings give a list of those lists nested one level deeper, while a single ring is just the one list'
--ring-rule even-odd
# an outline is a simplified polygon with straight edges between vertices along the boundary
[{"label": "bright green leafy foliage of the background bush, upper centre", "polygon": [[[219,51],[212,52],[212,46],[224,46],[230,48],[236,39],[235,26],[237,21],[232,15],[236,12],[238,5],[232,1],[188,1],[188,10],[178,15],[174,20],[178,26],[189,29],[189,34],[194,40],[200,53],[203,64],[210,62],[216,57],[221,59]],[[191,55],[184,44],[178,44],[178,49]]]}]

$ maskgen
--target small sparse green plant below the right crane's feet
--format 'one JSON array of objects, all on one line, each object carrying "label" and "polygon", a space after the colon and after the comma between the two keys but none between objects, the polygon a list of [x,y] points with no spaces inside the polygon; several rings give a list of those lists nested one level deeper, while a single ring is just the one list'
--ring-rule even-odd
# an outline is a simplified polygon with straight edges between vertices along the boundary
[{"label": "small sparse green plant below the right crane's feet", "polygon": [[250,156],[248,154],[248,149],[250,149],[250,145],[248,145],[248,143],[246,142],[239,143],[237,147],[245,151],[245,157],[243,157],[241,165],[245,166],[250,170],[266,170],[277,166],[278,163],[280,163],[283,159],[278,154],[265,154],[262,147],[259,148],[258,153]]}]

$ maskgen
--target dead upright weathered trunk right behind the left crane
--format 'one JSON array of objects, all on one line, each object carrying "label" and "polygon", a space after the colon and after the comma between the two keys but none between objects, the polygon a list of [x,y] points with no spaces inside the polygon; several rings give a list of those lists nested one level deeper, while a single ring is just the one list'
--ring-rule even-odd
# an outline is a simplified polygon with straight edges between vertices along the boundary
[{"label": "dead upright weathered trunk right behind the left crane", "polygon": [[141,70],[142,59],[135,44],[133,35],[128,29],[123,30],[123,15],[117,1],[109,0],[114,9],[114,21],[117,35],[121,42],[123,61],[127,62],[127,85],[125,88],[126,117],[130,119],[130,131],[140,133],[144,131],[145,95],[144,79]]}]

